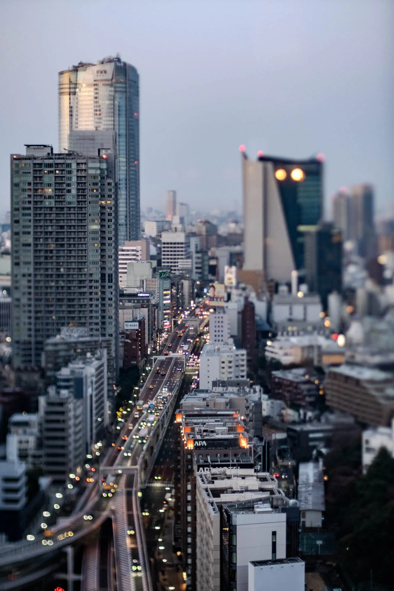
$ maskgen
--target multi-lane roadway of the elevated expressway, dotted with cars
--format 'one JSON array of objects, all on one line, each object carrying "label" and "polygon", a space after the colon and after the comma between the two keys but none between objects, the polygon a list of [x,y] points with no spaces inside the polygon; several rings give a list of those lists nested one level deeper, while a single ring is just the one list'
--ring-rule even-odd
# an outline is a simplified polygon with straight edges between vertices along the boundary
[{"label": "multi-lane roadway of the elevated expressway, dotted with cars", "polygon": [[[184,360],[188,358],[187,353],[192,349],[195,340],[196,326],[187,326],[188,324],[191,324],[188,319],[182,320],[176,330],[169,334],[162,356],[154,363],[145,384],[138,392],[138,397],[134,397],[134,392],[122,392],[123,398],[130,399],[130,404],[135,400],[142,402],[143,405],[154,401],[155,420],[158,424],[160,423],[160,415],[166,413],[167,406],[170,407],[170,397],[175,396],[178,391],[184,373]],[[184,346],[188,348],[187,351],[183,350]],[[184,352],[186,355],[183,355]],[[163,396],[168,397],[167,402]],[[117,430],[117,441],[112,443],[106,453],[102,449],[100,450],[101,467],[104,467],[104,470],[100,476],[98,476],[99,470],[96,470],[90,488],[86,489],[82,499],[77,503],[77,511],[69,518],[56,523],[54,529],[57,531],[53,538],[48,539],[44,535],[37,535],[31,541],[5,544],[0,547],[0,569],[3,573],[0,574],[0,589],[17,589],[22,582],[23,584],[30,583],[34,580],[34,573],[24,579],[25,569],[22,567],[22,563],[28,564],[30,560],[39,560],[41,563],[41,560],[63,547],[75,543],[76,540],[87,534],[94,534],[94,531],[98,531],[108,518],[112,518],[112,522],[114,522],[118,589],[124,588],[128,591],[130,589],[143,591],[151,589],[143,521],[139,506],[140,471],[144,469],[147,473],[149,463],[156,457],[164,436],[164,431],[160,432],[156,449],[152,450],[152,447],[149,446],[149,437],[154,435],[158,425],[155,427],[154,424],[150,424],[147,427],[141,427],[141,423],[149,422],[147,418],[151,414],[152,410],[147,412],[135,405],[128,418],[118,422],[117,427],[120,429]],[[145,439],[138,436],[141,428],[145,430]],[[148,455],[150,457],[144,461],[144,456]],[[108,470],[105,470],[105,467],[108,467]],[[111,482],[114,485],[111,489],[102,486],[102,478],[106,479],[105,482],[108,485],[109,476],[112,477]],[[84,519],[86,514],[93,515],[93,519]],[[121,515],[125,517],[124,521],[120,519]],[[100,548],[101,546],[96,544],[92,545],[93,547]],[[98,566],[102,571],[104,567],[101,564],[101,559],[99,558],[98,561]],[[127,585],[127,580],[125,580],[124,586],[120,584],[124,579],[125,569],[129,573],[126,579],[131,574],[130,586]],[[11,578],[10,575],[12,575]],[[5,582],[7,586],[4,586]]]}]

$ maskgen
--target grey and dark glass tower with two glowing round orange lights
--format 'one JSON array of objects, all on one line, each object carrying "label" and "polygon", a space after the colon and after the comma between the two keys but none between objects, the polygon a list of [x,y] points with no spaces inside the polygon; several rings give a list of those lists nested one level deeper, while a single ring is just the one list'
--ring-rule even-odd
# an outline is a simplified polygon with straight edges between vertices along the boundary
[{"label": "grey and dark glass tower with two glowing round orange lights", "polygon": [[244,269],[289,281],[304,268],[305,233],[323,216],[321,158],[290,160],[242,154]]}]

